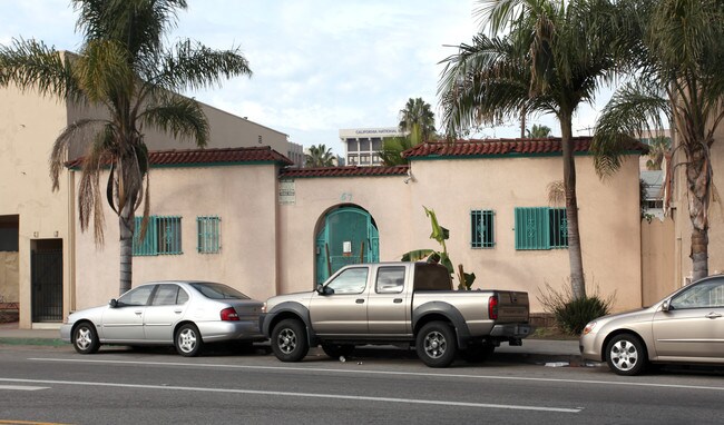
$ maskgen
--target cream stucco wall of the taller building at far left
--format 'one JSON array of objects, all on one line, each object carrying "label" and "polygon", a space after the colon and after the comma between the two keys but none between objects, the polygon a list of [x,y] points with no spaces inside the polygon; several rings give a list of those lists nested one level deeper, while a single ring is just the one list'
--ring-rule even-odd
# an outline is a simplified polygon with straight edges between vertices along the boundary
[{"label": "cream stucco wall of the taller building at far left", "polygon": [[[0,88],[0,215],[19,215],[18,279],[20,326],[30,327],[30,246],[32,239],[67,239],[68,186],[51,190],[48,159],[67,125],[65,105],[14,87]],[[63,244],[63,280],[69,280]]]}]

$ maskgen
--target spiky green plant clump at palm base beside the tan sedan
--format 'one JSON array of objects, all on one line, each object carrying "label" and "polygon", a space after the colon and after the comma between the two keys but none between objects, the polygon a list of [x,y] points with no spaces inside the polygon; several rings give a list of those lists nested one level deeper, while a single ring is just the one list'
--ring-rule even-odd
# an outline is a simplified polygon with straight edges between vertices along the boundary
[{"label": "spiky green plant clump at palm base beside the tan sedan", "polygon": [[596,288],[593,295],[575,298],[570,285],[564,286],[564,290],[558,291],[546,284],[546,289],[541,290],[538,302],[542,304],[546,313],[554,315],[556,324],[562,332],[579,335],[590,320],[610,313],[614,295],[604,299]]}]

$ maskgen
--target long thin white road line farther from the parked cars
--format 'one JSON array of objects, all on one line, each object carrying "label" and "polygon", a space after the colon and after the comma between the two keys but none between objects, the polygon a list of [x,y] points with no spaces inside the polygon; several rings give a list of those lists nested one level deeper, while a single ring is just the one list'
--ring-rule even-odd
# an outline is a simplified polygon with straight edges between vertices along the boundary
[{"label": "long thin white road line farther from the parked cars", "polygon": [[442,402],[442,401],[434,401],[434,399],[417,399],[417,398],[369,397],[369,396],[340,395],[340,394],[290,393],[290,392],[276,392],[276,391],[235,389],[235,388],[182,387],[182,386],[173,386],[173,385],[114,384],[114,383],[92,383],[92,382],[75,382],[75,380],[13,379],[13,378],[0,378],[0,382],[47,384],[47,385],[76,385],[76,386],[91,386],[91,387],[136,388],[136,389],[155,389],[155,391],[160,391],[160,389],[186,391],[186,392],[197,392],[197,393],[252,394],[252,395],[281,396],[281,397],[351,399],[351,401],[360,401],[360,402],[424,404],[424,405],[448,406],[448,407],[500,408],[500,409],[509,409],[509,411],[579,413],[583,409],[583,408],[546,407],[546,406],[519,406],[519,405],[490,404],[490,403]]}]

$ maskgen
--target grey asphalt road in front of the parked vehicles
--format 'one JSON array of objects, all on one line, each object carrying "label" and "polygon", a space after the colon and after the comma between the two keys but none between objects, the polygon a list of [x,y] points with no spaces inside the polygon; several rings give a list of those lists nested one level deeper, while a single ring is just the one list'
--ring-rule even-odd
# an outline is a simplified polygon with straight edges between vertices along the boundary
[{"label": "grey asphalt road in front of the parked vehicles", "polygon": [[224,350],[0,348],[0,424],[718,424],[714,369],[624,378],[606,367],[456,363],[404,352],[296,364]]}]

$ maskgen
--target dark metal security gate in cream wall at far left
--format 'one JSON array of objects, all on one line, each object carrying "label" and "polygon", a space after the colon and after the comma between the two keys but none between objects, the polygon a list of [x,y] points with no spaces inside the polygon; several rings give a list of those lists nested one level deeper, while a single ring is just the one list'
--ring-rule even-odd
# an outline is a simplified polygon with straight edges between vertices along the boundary
[{"label": "dark metal security gate in cream wall at far left", "polygon": [[62,249],[32,251],[32,322],[62,322]]}]

